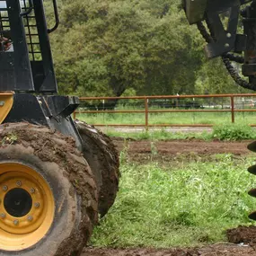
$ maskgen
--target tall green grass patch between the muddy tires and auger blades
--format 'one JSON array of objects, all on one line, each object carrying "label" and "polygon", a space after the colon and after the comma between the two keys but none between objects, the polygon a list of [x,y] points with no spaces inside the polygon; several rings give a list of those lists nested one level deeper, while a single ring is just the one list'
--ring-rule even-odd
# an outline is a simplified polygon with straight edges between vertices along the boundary
[{"label": "tall green grass patch between the muddy tires and auger blades", "polygon": [[256,199],[252,159],[220,154],[208,163],[137,165],[121,157],[120,189],[109,214],[93,233],[94,246],[171,247],[225,241],[225,230],[249,225]]}]

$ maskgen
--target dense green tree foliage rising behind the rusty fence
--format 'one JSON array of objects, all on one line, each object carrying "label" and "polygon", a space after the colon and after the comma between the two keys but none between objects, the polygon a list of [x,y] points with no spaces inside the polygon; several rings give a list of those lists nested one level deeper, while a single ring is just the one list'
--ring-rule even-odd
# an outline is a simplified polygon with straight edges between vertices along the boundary
[{"label": "dense green tree foliage rising behind the rusty fence", "polygon": [[[220,59],[206,61],[204,40],[180,0],[58,0],[51,35],[60,93],[119,96],[241,93]],[[49,24],[53,22],[46,1]]]}]

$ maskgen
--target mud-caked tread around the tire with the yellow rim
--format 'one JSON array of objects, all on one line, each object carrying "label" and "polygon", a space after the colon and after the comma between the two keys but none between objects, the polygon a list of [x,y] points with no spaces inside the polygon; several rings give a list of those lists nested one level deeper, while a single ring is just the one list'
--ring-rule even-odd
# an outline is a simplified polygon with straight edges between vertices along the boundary
[{"label": "mud-caked tread around the tire with the yellow rim", "polygon": [[[79,255],[93,232],[93,225],[98,222],[98,190],[93,172],[83,155],[76,149],[75,140],[49,128],[15,123],[1,126],[0,144],[3,152],[13,146],[30,148],[32,156],[35,155],[40,161],[56,163],[62,172],[61,175],[73,185],[69,194],[73,196],[75,193],[80,198],[79,223],[59,244],[54,256]],[[12,161],[11,154],[5,155]]]}]

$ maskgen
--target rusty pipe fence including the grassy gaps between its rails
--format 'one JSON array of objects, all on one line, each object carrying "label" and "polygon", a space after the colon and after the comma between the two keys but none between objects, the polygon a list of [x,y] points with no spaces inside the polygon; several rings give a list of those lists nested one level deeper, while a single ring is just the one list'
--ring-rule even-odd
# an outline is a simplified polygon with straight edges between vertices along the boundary
[{"label": "rusty pipe fence including the grassy gaps between its rails", "polygon": [[94,126],[212,127],[239,120],[256,127],[254,93],[81,97],[80,102],[74,119],[84,119]]}]

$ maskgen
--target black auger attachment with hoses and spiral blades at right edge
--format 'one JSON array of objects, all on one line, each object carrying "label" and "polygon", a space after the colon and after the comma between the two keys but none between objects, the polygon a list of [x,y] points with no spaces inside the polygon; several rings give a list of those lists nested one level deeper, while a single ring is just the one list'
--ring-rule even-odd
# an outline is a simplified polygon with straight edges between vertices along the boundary
[{"label": "black auger attachment with hoses and spiral blades at right edge", "polygon": [[[182,4],[190,24],[197,24],[207,41],[207,57],[222,57],[234,82],[256,91],[256,1],[183,0]],[[243,34],[237,32],[241,21]],[[242,64],[243,76],[248,80],[239,75],[233,62]],[[248,149],[256,152],[256,142]],[[248,171],[256,175],[256,165]],[[255,198],[256,189],[250,190],[249,195]],[[249,217],[256,220],[256,212]]]}]

